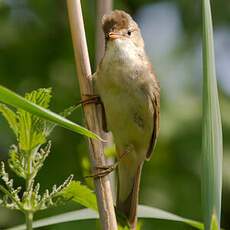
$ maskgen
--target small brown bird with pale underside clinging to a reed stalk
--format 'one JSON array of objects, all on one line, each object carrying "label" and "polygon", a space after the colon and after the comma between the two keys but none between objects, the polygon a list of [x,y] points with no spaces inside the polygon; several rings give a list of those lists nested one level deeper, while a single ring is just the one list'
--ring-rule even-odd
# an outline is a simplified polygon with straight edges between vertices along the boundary
[{"label": "small brown bird with pale underside clinging to a reed stalk", "polygon": [[141,170],[159,133],[160,87],[131,16],[112,11],[102,26],[105,54],[93,77],[118,155],[116,206],[135,229]]}]

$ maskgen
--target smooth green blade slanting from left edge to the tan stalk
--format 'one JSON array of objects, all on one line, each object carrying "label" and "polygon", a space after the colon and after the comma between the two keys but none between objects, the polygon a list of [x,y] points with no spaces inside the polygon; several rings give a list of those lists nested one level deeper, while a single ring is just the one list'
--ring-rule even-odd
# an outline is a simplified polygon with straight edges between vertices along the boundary
[{"label": "smooth green blade slanting from left edge to the tan stalk", "polygon": [[36,105],[33,102],[28,101],[27,99],[19,96],[18,94],[12,92],[11,90],[1,85],[0,85],[0,101],[6,104],[12,105],[16,108],[23,109],[29,113],[32,113],[50,122],[54,122],[58,124],[59,126],[62,126],[73,132],[80,133],[90,138],[97,138],[99,140],[102,140],[97,134],[89,131],[88,129],[80,125],[77,125],[73,123],[72,121],[54,112],[51,112],[50,110],[47,110],[39,105]]}]

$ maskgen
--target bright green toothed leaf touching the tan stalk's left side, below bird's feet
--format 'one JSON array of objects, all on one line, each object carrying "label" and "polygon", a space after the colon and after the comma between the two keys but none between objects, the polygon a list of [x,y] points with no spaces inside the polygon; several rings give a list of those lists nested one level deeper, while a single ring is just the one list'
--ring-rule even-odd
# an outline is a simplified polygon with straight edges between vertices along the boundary
[{"label": "bright green toothed leaf touching the tan stalk's left side, below bird's feet", "polygon": [[65,199],[71,199],[87,208],[97,210],[97,200],[95,194],[79,181],[72,181],[60,195]]}]

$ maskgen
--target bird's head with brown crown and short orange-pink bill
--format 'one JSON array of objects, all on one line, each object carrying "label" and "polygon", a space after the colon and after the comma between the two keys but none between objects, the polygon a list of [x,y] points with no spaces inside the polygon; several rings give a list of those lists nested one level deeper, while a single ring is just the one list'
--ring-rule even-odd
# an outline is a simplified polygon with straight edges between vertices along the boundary
[{"label": "bird's head with brown crown and short orange-pink bill", "polygon": [[137,23],[124,11],[114,10],[104,15],[102,18],[102,28],[106,43],[123,40],[124,42],[132,42],[138,48],[144,47]]}]

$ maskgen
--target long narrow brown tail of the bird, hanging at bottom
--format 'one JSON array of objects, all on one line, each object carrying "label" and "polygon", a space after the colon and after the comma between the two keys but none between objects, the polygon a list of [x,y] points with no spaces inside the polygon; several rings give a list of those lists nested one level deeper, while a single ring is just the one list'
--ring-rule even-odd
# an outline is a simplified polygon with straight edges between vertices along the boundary
[{"label": "long narrow brown tail of the bird, hanging at bottom", "polygon": [[130,229],[135,230],[137,224],[137,206],[139,187],[143,163],[128,167],[126,164],[118,166],[117,209],[123,213],[129,222]]}]

